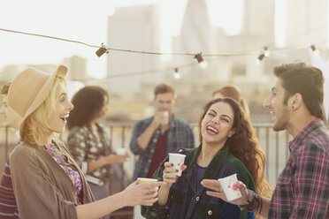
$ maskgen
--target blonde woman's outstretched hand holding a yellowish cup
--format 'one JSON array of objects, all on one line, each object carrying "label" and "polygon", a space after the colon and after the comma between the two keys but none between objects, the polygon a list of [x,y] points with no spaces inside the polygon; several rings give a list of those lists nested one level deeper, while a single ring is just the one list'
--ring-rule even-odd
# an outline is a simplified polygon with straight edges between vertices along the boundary
[{"label": "blonde woman's outstretched hand holding a yellowish cup", "polygon": [[121,192],[122,201],[125,206],[145,205],[157,201],[157,190],[164,182],[155,182],[151,184],[137,184],[134,181]]}]

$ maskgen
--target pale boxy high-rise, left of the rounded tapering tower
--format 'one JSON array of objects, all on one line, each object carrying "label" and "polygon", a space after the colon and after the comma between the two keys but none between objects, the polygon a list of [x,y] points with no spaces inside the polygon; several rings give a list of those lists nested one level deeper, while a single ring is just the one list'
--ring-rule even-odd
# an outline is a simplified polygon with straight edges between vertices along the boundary
[{"label": "pale boxy high-rise, left of the rounded tapering tower", "polygon": [[[139,5],[117,8],[108,19],[108,45],[113,49],[139,51],[160,50],[160,27],[157,5]],[[110,51],[107,56],[107,74],[113,92],[134,92],[142,82],[158,81],[151,74],[138,74],[124,78],[117,75],[147,72],[158,69],[160,57],[154,55]]]}]

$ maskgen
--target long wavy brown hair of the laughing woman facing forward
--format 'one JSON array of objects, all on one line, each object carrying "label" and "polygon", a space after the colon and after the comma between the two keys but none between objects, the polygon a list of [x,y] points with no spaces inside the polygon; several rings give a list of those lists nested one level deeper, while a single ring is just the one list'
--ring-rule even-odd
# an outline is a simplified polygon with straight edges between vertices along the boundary
[{"label": "long wavy brown hair of the laughing woman facing forward", "polygon": [[240,105],[231,98],[218,98],[207,102],[203,107],[203,114],[199,119],[199,140],[203,141],[201,123],[210,107],[217,102],[225,102],[233,109],[234,134],[226,140],[229,151],[237,157],[249,170],[254,179],[257,193],[265,197],[272,197],[272,188],[265,177],[265,155],[260,147],[251,122]]}]

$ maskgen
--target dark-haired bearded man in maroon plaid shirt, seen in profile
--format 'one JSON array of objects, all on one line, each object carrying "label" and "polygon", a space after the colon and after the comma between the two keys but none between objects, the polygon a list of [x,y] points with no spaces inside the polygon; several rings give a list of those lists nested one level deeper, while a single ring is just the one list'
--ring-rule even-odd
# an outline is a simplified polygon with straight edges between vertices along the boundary
[{"label": "dark-haired bearded man in maroon plaid shirt, seen in profile", "polygon": [[[329,218],[329,132],[325,114],[322,72],[304,63],[274,67],[275,86],[264,101],[272,113],[274,131],[287,130],[290,156],[279,175],[272,200],[238,183],[242,197],[231,203],[268,218]],[[209,193],[226,200],[220,186],[210,180]]]}]

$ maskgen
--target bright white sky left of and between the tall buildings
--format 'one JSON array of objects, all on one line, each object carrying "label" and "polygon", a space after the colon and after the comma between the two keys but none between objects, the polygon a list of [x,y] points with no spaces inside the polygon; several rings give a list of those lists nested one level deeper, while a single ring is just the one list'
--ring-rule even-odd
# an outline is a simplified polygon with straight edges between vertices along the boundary
[{"label": "bright white sky left of and between the tall buildings", "polygon": [[[214,0],[207,0],[207,3],[218,5]],[[171,38],[179,34],[179,20],[187,0],[111,0],[97,1],[97,3],[76,0],[69,2],[60,0],[56,3],[39,0],[3,1],[0,3],[0,28],[51,35],[100,46],[102,42],[107,42],[107,19],[115,13],[116,8],[146,4],[159,6],[159,24],[162,28],[160,50],[170,51]],[[243,4],[243,0],[233,0],[229,6],[234,7],[234,4]],[[171,5],[175,5],[175,10]],[[214,17],[215,13],[211,14]],[[225,26],[218,19],[211,20],[215,26]],[[234,32],[234,30],[227,31],[228,34]],[[95,78],[106,75],[106,58],[97,59],[96,49],[79,44],[0,31],[0,48],[2,53],[0,68],[5,64],[56,64],[65,57],[77,55],[88,58],[88,72]],[[101,73],[96,75],[96,72]]]}]

